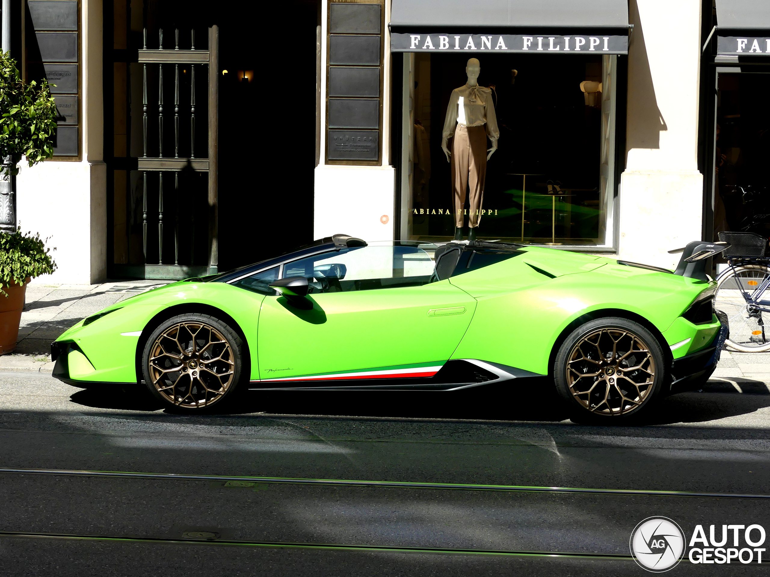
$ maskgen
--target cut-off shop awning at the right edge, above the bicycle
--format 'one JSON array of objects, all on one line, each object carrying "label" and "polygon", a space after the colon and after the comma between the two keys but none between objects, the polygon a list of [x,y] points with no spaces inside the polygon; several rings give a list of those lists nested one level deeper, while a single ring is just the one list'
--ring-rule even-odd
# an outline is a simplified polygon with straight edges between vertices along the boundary
[{"label": "cut-off shop awning at the right edge, above the bicycle", "polygon": [[768,0],[717,0],[717,54],[770,54]]}]

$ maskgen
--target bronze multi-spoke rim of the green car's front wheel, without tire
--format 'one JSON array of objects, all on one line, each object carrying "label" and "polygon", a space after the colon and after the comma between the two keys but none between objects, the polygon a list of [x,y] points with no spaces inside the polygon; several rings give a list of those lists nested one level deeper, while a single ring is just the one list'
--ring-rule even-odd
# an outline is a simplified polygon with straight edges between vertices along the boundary
[{"label": "bronze multi-spoke rim of the green car's front wheel, without tire", "polygon": [[163,399],[184,409],[203,409],[233,386],[235,356],[222,332],[206,322],[179,322],[161,332],[149,349],[149,378]]}]

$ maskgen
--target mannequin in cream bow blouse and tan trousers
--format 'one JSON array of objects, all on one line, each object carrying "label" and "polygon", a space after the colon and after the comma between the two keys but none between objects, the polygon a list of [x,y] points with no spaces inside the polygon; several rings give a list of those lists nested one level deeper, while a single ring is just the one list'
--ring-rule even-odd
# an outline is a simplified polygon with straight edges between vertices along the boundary
[{"label": "mannequin in cream bow blouse and tan trousers", "polygon": [[[447,155],[447,162],[450,163],[452,171],[455,240],[463,238],[466,187],[470,188],[467,202],[470,228],[468,240],[476,238],[484,200],[487,160],[497,150],[497,138],[500,137],[492,91],[478,85],[480,72],[479,61],[470,58],[465,67],[468,82],[452,91],[442,133],[441,149]],[[492,143],[491,148],[487,148],[487,137]],[[449,138],[452,138],[451,152],[447,147]]]}]

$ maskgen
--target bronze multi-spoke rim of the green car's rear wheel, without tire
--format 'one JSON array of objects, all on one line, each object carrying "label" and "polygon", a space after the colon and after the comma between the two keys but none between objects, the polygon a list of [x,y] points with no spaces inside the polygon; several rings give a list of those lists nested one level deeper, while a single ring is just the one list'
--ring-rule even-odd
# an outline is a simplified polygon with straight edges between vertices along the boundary
[{"label": "bronze multi-spoke rim of the green car's rear wheel, without tire", "polygon": [[624,329],[597,329],[579,339],[566,363],[569,391],[598,415],[624,415],[653,389],[655,361],[648,345]]}]

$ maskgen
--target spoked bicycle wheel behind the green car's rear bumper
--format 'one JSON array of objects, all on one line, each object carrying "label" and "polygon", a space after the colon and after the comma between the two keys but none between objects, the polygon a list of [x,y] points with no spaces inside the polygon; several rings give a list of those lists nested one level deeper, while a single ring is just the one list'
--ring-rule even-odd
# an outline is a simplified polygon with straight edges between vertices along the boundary
[{"label": "spoked bicycle wheel behind the green car's rear bumper", "polygon": [[[770,277],[770,268],[764,265],[744,265],[728,268],[717,278],[714,308],[724,312],[730,325],[730,336],[725,341],[731,349],[740,352],[770,351],[770,313],[746,302],[756,289]],[[757,295],[758,296],[758,295]],[[770,290],[762,302],[770,308]]]}]

